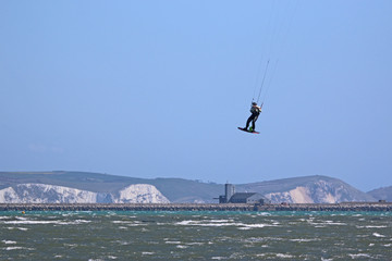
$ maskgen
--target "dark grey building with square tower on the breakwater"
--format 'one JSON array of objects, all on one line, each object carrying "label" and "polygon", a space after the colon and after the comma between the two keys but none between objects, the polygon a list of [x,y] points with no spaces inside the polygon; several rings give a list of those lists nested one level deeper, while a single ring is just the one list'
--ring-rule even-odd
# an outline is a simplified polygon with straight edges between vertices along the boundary
[{"label": "dark grey building with square tower on the breakwater", "polygon": [[224,185],[224,195],[219,196],[219,203],[259,203],[269,202],[261,194],[258,192],[235,192],[233,184]]}]

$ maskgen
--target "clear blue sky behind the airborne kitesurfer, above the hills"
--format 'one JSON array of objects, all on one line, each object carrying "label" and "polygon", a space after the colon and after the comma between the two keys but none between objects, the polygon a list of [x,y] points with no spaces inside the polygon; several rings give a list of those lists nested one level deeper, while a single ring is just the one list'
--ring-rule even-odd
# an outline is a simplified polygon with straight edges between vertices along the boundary
[{"label": "clear blue sky behind the airborne kitesurfer, above the hills", "polygon": [[[392,185],[392,2],[0,2],[0,170]],[[266,80],[259,135],[240,132]]]}]

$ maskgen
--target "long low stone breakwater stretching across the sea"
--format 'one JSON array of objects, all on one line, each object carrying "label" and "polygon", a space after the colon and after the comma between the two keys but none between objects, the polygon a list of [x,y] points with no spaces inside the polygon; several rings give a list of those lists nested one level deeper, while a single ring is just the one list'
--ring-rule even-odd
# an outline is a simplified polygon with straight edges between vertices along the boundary
[{"label": "long low stone breakwater stretching across the sea", "polygon": [[0,203],[0,211],[392,211],[392,203]]}]

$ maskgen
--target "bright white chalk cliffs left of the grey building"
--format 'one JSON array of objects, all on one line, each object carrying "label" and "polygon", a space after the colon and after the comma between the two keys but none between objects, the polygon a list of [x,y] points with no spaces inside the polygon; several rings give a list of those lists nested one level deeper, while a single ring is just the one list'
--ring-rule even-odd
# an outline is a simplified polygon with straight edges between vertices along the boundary
[{"label": "bright white chalk cliffs left of the grey building", "polygon": [[76,188],[20,184],[0,190],[0,203],[169,203],[170,201],[152,185],[137,184],[118,194],[97,194]]}]

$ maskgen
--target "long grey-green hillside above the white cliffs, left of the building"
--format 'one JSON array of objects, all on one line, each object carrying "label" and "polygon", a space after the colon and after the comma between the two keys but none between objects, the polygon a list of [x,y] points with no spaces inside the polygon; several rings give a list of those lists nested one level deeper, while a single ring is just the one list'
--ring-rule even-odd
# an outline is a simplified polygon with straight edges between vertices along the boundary
[{"label": "long grey-green hillside above the white cliffs, left of the building", "polygon": [[46,184],[101,194],[113,194],[130,185],[155,186],[171,202],[217,202],[224,186],[182,178],[135,178],[88,172],[0,172],[0,189],[19,184]]}]

